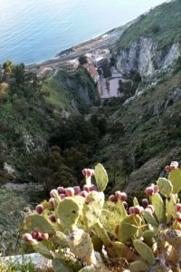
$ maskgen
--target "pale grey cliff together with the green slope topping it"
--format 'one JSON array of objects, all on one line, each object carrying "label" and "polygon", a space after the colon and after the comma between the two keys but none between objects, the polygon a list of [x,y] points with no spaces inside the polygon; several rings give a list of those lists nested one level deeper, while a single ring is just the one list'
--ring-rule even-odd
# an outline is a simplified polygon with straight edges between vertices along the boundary
[{"label": "pale grey cliff together with the green slope topping it", "polygon": [[141,15],[120,37],[117,68],[142,77],[167,68],[181,53],[181,1],[171,1]]}]

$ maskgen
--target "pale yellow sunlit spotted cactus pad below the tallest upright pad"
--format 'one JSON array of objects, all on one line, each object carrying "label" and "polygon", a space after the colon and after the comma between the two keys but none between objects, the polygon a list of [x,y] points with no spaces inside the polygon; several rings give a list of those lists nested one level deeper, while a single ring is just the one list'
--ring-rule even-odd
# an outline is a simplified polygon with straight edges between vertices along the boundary
[{"label": "pale yellow sunlit spotted cactus pad below the tallest upright pad", "polygon": [[91,228],[100,218],[104,205],[104,194],[92,191],[87,196],[83,205],[83,219],[87,228]]}]

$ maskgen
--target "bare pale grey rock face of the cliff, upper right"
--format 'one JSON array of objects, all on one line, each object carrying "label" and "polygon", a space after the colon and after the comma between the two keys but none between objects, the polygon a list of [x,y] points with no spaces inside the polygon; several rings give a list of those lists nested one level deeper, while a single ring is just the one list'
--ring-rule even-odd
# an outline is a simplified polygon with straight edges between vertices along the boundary
[{"label": "bare pale grey rock face of the cliff, upper right", "polygon": [[142,77],[171,65],[180,55],[181,45],[171,44],[169,48],[157,51],[152,38],[141,37],[117,57],[117,69],[121,73],[137,71]]}]

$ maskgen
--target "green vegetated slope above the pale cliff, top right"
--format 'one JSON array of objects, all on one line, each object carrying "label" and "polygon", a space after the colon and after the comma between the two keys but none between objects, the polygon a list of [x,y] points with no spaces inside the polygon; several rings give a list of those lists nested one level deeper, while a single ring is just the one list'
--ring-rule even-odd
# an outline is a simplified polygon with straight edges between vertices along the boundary
[{"label": "green vegetated slope above the pale cliff, top right", "polygon": [[141,15],[135,24],[121,36],[118,48],[125,50],[140,37],[151,37],[157,45],[157,50],[167,49],[167,46],[181,42],[181,1],[171,1],[158,5]]}]

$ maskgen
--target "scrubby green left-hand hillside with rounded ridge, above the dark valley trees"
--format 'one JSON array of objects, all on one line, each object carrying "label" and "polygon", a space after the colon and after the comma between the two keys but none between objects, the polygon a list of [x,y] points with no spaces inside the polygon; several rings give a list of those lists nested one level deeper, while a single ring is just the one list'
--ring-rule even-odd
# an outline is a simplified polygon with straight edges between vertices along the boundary
[{"label": "scrubby green left-hand hillside with rounded ridge, above the dark valley trees", "polygon": [[0,84],[1,182],[25,182],[32,180],[33,158],[47,150],[53,131],[68,117],[79,120],[100,98],[90,74],[82,68],[74,73],[60,70],[41,82],[24,73],[23,65],[11,66]]}]

